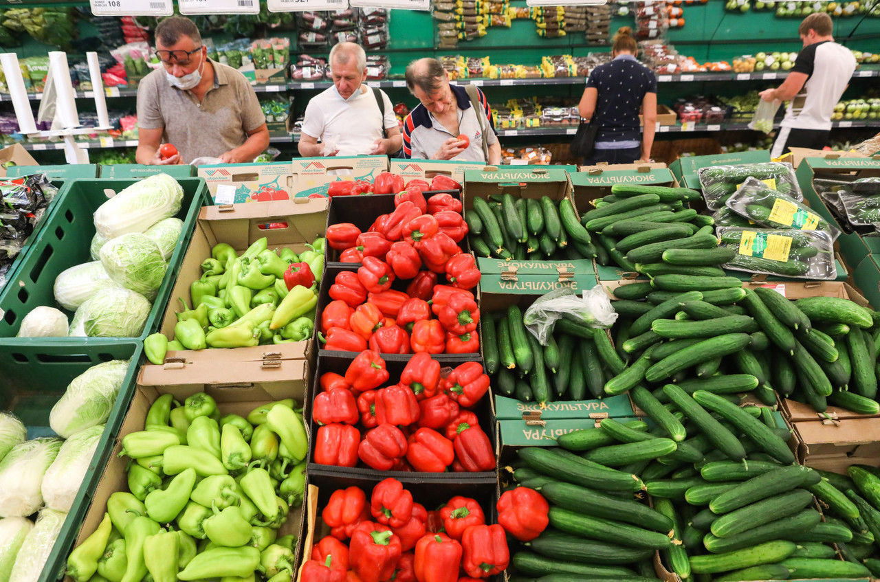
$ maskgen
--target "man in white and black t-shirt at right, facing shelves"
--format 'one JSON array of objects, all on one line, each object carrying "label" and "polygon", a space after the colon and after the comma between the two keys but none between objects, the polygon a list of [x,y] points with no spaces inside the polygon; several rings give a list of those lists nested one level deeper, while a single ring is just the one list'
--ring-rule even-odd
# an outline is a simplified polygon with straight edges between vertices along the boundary
[{"label": "man in white and black t-shirt at right, facing shelves", "polygon": [[834,42],[832,30],[825,12],[804,18],[797,28],[803,50],[795,66],[778,88],[760,92],[765,101],[788,101],[771,156],[781,156],[788,148],[822,149],[828,143],[834,105],[855,70],[853,53]]}]

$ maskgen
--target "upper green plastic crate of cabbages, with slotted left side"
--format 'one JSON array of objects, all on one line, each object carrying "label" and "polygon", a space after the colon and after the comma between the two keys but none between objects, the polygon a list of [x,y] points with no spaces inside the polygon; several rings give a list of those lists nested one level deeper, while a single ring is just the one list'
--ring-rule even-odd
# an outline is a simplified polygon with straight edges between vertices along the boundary
[{"label": "upper green plastic crate of cabbages, with slotted left side", "polygon": [[[57,342],[91,343],[114,340],[114,338],[16,338],[22,319],[36,307],[47,305],[59,307],[55,303],[52,290],[55,277],[71,266],[91,261],[89,246],[95,234],[95,210],[106,201],[105,189],[115,192],[134,184],[137,180],[88,179],[69,180],[53,200],[53,209],[44,220],[38,236],[26,256],[22,258],[18,273],[0,291],[0,345],[47,345]],[[165,280],[159,287],[156,301],[147,317],[139,338],[146,338],[158,329],[165,314],[165,307],[171,295],[174,282],[180,271],[180,263],[187,252],[189,240],[193,236],[195,222],[202,206],[209,204],[208,188],[202,178],[180,178],[183,186],[183,203],[176,215],[183,221],[177,248],[168,261]],[[70,317],[72,313],[68,312]],[[118,340],[119,338],[116,338]]]}]

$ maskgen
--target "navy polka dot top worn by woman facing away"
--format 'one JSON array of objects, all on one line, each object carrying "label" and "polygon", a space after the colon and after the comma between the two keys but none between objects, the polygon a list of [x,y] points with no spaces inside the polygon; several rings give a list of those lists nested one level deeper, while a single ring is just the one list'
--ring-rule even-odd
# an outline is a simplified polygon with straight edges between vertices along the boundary
[{"label": "navy polka dot top worn by woman facing away", "polygon": [[593,69],[587,86],[598,92],[592,119],[599,124],[596,142],[640,142],[639,110],[645,93],[657,92],[654,72],[631,55],[619,55]]}]

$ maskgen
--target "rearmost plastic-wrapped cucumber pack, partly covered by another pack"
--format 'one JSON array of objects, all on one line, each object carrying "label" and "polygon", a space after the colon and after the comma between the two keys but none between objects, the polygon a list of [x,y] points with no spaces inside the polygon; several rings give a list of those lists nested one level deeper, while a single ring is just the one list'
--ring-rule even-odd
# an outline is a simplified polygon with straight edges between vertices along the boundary
[{"label": "rearmost plastic-wrapped cucumber pack, partly covered by another pack", "polygon": [[743,186],[746,178],[757,178],[766,186],[801,201],[803,194],[797,186],[795,169],[787,162],[761,162],[707,166],[697,170],[706,206],[711,210],[723,207],[730,196]]}]

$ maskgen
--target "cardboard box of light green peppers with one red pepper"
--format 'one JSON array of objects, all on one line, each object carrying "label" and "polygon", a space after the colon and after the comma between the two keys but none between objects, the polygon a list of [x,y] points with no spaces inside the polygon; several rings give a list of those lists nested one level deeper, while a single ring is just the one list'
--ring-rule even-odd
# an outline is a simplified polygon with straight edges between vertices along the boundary
[{"label": "cardboard box of light green peppers with one red pepper", "polygon": [[[293,200],[279,200],[264,204],[234,204],[229,206],[202,207],[196,222],[192,241],[180,266],[172,297],[183,297],[189,303],[189,286],[202,277],[202,261],[211,256],[211,248],[217,243],[231,244],[239,253],[261,236],[268,237],[268,248],[290,247],[295,252],[305,251],[305,244],[323,236],[326,225],[326,200],[305,200],[303,204]],[[263,229],[266,222],[283,222],[287,228]],[[317,274],[317,273],[316,273]],[[176,310],[180,303],[169,302],[160,331],[166,337],[174,336],[177,324]],[[213,362],[216,374],[224,377],[224,366],[239,361],[302,360],[306,357],[311,340],[293,344],[239,347],[234,349],[211,348],[209,350],[169,352],[164,366],[148,366],[163,370],[167,375],[178,377],[187,374],[187,367]],[[172,361],[168,361],[172,360]],[[221,366],[217,366],[222,364]],[[151,370],[150,373],[158,373]]]}]

